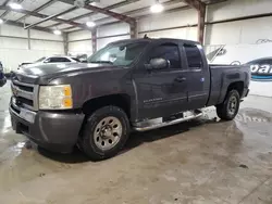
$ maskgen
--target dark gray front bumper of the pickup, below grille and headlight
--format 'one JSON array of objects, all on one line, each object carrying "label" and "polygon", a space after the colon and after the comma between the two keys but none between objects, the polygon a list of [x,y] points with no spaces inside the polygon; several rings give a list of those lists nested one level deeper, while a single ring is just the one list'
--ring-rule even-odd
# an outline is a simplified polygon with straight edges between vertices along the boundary
[{"label": "dark gray front bumper of the pickup, below grille and headlight", "polygon": [[38,145],[54,151],[71,152],[77,142],[83,114],[65,112],[32,112],[10,103],[12,127]]}]

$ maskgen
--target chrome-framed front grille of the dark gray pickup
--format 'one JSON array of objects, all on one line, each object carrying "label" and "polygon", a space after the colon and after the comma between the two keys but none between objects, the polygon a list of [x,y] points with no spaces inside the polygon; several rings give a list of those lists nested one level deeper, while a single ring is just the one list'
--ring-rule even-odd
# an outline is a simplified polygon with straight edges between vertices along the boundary
[{"label": "chrome-framed front grille of the dark gray pickup", "polygon": [[38,86],[12,80],[11,89],[17,106],[38,111]]}]

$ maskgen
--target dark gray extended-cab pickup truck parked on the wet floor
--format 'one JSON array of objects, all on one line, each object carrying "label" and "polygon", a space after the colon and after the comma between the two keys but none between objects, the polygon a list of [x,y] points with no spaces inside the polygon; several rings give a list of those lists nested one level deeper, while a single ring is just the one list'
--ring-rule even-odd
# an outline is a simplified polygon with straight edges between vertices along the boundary
[{"label": "dark gray extended-cab pickup truck parked on the wet floor", "polygon": [[201,46],[177,39],[108,44],[88,63],[27,67],[12,77],[14,130],[57,152],[78,145],[91,160],[115,155],[131,130],[189,120],[215,105],[233,119],[247,97],[247,66],[208,65]]}]

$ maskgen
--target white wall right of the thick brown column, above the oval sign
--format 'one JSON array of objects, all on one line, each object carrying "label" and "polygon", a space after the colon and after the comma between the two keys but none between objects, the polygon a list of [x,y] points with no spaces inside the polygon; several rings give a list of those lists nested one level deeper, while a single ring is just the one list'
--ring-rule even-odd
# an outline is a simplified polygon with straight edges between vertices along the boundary
[{"label": "white wall right of the thick brown column, above the oval sign", "polygon": [[[208,7],[207,21],[214,22],[272,12],[271,0],[228,0]],[[259,17],[208,25],[206,44],[255,43],[258,39],[272,39],[272,17]]]}]

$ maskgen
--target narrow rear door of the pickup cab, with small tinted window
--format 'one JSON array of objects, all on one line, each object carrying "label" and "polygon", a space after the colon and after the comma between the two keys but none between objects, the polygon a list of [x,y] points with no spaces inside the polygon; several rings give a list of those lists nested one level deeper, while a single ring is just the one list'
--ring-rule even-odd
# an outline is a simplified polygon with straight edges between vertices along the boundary
[{"label": "narrow rear door of the pickup cab, with small tinted window", "polygon": [[199,44],[184,43],[185,62],[188,67],[188,109],[196,110],[207,104],[210,92],[209,65]]}]

